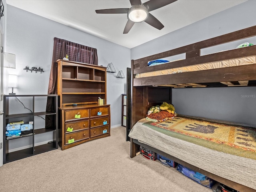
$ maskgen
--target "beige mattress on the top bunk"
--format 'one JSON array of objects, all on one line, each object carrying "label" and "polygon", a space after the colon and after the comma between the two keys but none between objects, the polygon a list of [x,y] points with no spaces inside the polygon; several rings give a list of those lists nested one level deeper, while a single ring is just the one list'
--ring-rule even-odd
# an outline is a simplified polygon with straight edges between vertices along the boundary
[{"label": "beige mattress on the top bunk", "polygon": [[[174,62],[174,61],[172,61],[172,62]],[[170,63],[170,62],[168,62],[168,63]],[[248,64],[255,64],[255,63],[256,63],[256,56],[247,56],[247,57],[223,60],[223,61],[218,61],[218,62],[209,62],[209,63],[197,64],[197,65],[180,67],[180,68],[172,68],[172,69],[166,69],[166,70],[158,70],[158,71],[153,71],[153,72],[140,73],[140,74],[136,74],[135,78],[168,75],[168,74],[176,74],[176,73],[182,73],[182,72],[192,72],[192,71],[248,65]],[[166,63],[164,63],[164,64],[166,64]]]}]

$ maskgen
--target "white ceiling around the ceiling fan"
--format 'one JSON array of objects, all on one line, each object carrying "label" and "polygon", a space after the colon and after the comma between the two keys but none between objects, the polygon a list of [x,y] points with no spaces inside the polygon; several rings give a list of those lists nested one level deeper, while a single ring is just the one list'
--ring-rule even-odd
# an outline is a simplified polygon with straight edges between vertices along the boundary
[{"label": "white ceiling around the ceiling fan", "polygon": [[[142,3],[148,0],[142,0]],[[6,3],[116,44],[133,48],[247,0],[178,0],[153,10],[164,28],[135,23],[123,34],[127,14],[96,14],[95,10],[130,8],[129,0],[6,0]]]}]

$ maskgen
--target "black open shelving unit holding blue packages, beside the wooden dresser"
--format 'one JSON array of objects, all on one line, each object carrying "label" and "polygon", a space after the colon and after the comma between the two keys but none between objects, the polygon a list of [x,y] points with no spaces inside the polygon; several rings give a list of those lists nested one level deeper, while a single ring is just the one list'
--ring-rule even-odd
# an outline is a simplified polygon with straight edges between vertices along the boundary
[{"label": "black open shelving unit holding blue packages, beside the wooden dresser", "polygon": [[[53,111],[46,112],[46,102],[52,99]],[[10,122],[24,121],[33,130],[20,136],[6,136]],[[4,95],[4,158],[12,162],[58,148],[58,95]]]}]

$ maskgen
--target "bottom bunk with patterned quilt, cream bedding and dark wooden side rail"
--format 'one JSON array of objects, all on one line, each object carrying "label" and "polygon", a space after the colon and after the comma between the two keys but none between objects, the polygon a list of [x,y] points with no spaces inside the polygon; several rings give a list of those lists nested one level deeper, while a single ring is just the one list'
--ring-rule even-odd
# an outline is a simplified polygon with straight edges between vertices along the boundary
[{"label": "bottom bunk with patterned quilt, cream bedding and dark wooden side rail", "polygon": [[131,157],[144,146],[240,192],[256,192],[256,128],[177,116],[143,118],[129,133]]}]

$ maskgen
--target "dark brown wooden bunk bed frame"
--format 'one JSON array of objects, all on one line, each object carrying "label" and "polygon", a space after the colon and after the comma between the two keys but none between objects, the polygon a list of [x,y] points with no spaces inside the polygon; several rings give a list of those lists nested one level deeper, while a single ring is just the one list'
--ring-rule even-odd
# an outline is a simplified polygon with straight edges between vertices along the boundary
[{"label": "dark brown wooden bunk bed frame", "polygon": [[[256,36],[256,26],[245,28],[236,32],[231,32],[222,36],[159,54],[154,54],[152,56],[132,60],[131,103],[128,104],[130,105],[132,112],[130,119],[131,128],[134,127],[134,125],[136,125],[139,120],[146,117],[148,109],[151,106],[156,106],[162,102],[172,103],[173,88],[256,86],[255,45],[216,52],[203,56],[200,55],[201,49],[250,38],[253,36]],[[170,56],[184,53],[186,54],[186,58],[183,60],[177,60],[174,62],[167,62],[164,64],[148,67],[149,61],[168,58]],[[241,61],[241,58],[245,58],[245,61]],[[234,65],[225,66],[224,64],[224,67],[221,68],[217,67],[207,70],[204,70],[203,68],[203,70],[193,70],[190,72],[188,71],[182,73],[174,72],[174,74],[167,72],[167,74],[158,74],[157,76],[155,76],[154,73],[150,74],[150,72],[162,72],[162,70],[170,70],[172,68],[178,68],[179,70],[181,67],[186,68],[192,65],[204,65],[209,63],[212,64],[222,61],[234,63]],[[138,154],[140,146],[144,146],[156,153],[170,158],[175,162],[200,172],[209,178],[230,186],[240,192],[256,192],[255,180],[253,182],[254,184],[249,186],[245,185],[242,181],[240,182],[236,180],[236,182],[234,182],[234,180],[220,176],[216,174],[216,172],[213,173],[206,171],[203,168],[199,168],[194,164],[188,163],[189,161],[186,158],[179,158],[169,151],[166,152],[164,150],[160,150],[154,145],[142,142],[141,140],[136,139],[136,137],[130,135],[131,134],[129,134],[131,143],[131,158]],[[145,137],[148,136],[145,135]],[[256,160],[254,159],[252,162],[256,163]],[[244,166],[246,165],[243,165],[243,167]],[[255,167],[256,166],[254,164],[254,166],[251,168],[254,174],[256,173]],[[218,169],[218,167],[216,167],[216,169]],[[246,176],[246,173],[243,174]]]}]

